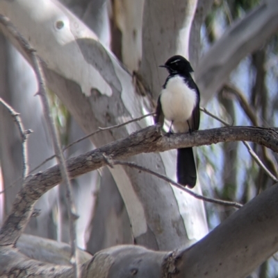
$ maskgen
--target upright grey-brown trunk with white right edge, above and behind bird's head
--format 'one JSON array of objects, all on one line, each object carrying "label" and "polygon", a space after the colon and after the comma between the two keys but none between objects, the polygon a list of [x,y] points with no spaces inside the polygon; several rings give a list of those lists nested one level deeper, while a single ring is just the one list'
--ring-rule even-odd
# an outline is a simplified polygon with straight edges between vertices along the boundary
[{"label": "upright grey-brown trunk with white right edge, above and behind bird's head", "polygon": [[196,5],[196,0],[145,0],[140,74],[155,101],[167,76],[167,72],[158,66],[175,54],[188,58]]}]

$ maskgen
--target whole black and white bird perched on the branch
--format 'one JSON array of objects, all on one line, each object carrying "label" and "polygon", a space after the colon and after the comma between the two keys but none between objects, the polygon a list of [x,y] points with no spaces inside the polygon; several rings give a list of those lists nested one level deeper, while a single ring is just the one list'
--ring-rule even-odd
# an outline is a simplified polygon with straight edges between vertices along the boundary
[{"label": "whole black and white bird perched on the branch", "polygon": [[[174,55],[165,64],[169,73],[158,97],[155,123],[163,125],[164,118],[171,122],[169,132],[191,132],[199,129],[199,89],[190,73],[190,62]],[[193,188],[197,173],[193,148],[177,149],[177,181]]]}]

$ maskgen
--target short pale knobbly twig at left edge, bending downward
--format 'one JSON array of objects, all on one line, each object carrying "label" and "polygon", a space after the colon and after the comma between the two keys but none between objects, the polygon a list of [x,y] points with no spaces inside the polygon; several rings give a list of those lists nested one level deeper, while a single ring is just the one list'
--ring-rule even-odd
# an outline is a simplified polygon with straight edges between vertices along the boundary
[{"label": "short pale knobbly twig at left edge, bending downward", "polygon": [[27,151],[27,138],[28,135],[31,134],[32,130],[24,130],[24,125],[22,123],[22,119],[19,116],[20,114],[15,112],[13,107],[8,105],[3,98],[0,98],[0,103],[6,107],[10,115],[13,117],[15,124],[19,130],[20,137],[22,139],[22,180],[25,180],[25,177],[28,175],[29,165],[28,165],[28,151]]}]

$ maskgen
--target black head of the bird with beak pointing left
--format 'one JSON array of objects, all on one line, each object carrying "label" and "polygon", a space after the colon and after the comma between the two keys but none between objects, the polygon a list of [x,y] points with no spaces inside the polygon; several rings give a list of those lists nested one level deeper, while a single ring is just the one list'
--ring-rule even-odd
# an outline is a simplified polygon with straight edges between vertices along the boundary
[{"label": "black head of the bird with beak pointing left", "polygon": [[159,67],[165,67],[170,74],[188,74],[190,72],[193,72],[190,62],[188,62],[188,60],[186,60],[186,58],[183,58],[183,56],[181,55],[172,56],[165,62],[165,64]]}]

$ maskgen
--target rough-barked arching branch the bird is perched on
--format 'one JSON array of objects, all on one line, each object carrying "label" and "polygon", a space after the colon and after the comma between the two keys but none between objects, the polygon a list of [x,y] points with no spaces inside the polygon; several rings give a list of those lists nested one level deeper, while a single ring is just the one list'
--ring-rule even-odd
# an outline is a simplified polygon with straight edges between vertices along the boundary
[{"label": "rough-barked arching branch the bird is perched on", "polygon": [[[106,157],[124,159],[140,153],[163,152],[174,148],[202,146],[230,141],[252,141],[278,153],[278,128],[225,127],[199,130],[185,134],[164,136],[158,125],[133,132],[129,137],[113,141],[78,157],[67,160],[70,178],[108,164]],[[13,245],[28,222],[35,201],[52,187],[61,182],[58,166],[43,173],[27,177],[26,186],[19,191],[13,204],[12,213],[0,231],[0,245]]]}]

